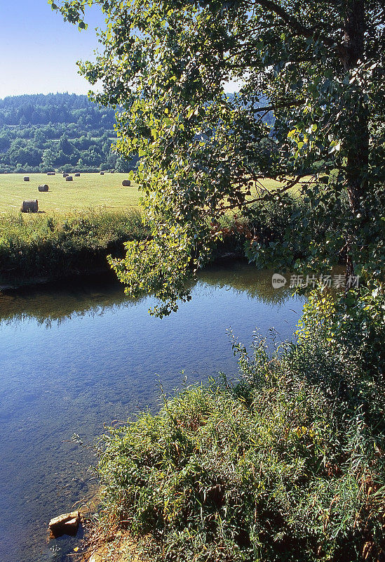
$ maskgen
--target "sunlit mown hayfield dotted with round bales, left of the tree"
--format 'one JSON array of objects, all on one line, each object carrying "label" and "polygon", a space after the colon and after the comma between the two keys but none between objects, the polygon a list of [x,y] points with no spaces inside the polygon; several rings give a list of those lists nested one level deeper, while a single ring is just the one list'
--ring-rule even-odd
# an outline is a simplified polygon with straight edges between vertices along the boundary
[{"label": "sunlit mown hayfield dotted with round bales, left of the tree", "polygon": [[[71,213],[104,207],[123,210],[137,207],[140,197],[137,184],[123,188],[128,174],[81,174],[74,181],[65,181],[62,174],[0,174],[0,214],[19,211],[23,200],[39,200],[39,211],[46,214]],[[29,182],[23,181],[29,176]],[[48,183],[48,192],[39,192],[38,186]]]}]

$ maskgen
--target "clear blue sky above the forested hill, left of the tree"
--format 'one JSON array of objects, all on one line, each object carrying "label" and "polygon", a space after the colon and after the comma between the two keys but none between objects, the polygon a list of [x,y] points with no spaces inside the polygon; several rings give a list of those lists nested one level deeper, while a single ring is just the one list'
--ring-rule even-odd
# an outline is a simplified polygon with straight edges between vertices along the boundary
[{"label": "clear blue sky above the forested hill, left of the tree", "polygon": [[95,27],[104,23],[95,8],[79,32],[53,12],[46,0],[0,0],[0,99],[22,93],[87,93],[76,60],[92,60]]}]

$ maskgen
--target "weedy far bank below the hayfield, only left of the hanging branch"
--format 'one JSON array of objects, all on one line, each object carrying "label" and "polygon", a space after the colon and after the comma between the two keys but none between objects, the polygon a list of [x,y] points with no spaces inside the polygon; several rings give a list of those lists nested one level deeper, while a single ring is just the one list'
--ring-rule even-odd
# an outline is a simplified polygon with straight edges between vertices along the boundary
[{"label": "weedy far bank below the hayfield, only left of the hanging branch", "polygon": [[137,210],[84,211],[72,216],[0,218],[0,283],[54,279],[106,268],[106,256],[123,255],[123,243],[148,231]]}]

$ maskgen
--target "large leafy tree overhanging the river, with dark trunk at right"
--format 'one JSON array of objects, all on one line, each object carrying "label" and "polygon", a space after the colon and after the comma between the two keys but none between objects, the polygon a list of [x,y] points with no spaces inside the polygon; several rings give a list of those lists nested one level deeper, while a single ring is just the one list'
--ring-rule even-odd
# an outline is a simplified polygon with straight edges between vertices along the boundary
[{"label": "large leafy tree overhanging the river, with dark trunk at right", "polygon": [[[378,272],[380,1],[49,3],[79,28],[87,4],[99,4],[107,16],[104,52],[80,68],[91,84],[104,84],[95,100],[123,107],[121,154],[141,158],[137,181],[152,237],[128,244],[126,259],[112,261],[128,294],[154,290],[165,302],[156,313],[175,309],[177,298],[189,299],[186,278],[221,237],[221,217],[233,210],[251,216],[255,201],[285,204],[285,192],[298,184],[310,209],[297,219],[309,246],[306,266],[329,269],[345,256],[348,275]],[[241,84],[234,96],[224,93],[229,79]],[[271,111],[269,126],[264,116]],[[278,188],[264,189],[263,177]],[[316,217],[327,224],[336,214],[337,235],[312,240],[309,223]],[[289,229],[262,251],[256,233],[247,254],[258,263],[303,267],[287,251],[288,240]]]}]

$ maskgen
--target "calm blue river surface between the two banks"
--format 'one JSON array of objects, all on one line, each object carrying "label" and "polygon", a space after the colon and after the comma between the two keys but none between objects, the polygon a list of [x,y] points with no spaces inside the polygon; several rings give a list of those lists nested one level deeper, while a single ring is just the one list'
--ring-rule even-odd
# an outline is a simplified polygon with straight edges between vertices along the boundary
[{"label": "calm blue river surface between the two banks", "polygon": [[159,380],[170,392],[184,376],[236,374],[227,329],[245,344],[256,327],[290,339],[304,303],[244,264],[206,270],[192,294],[159,320],[154,299],[102,279],[0,293],[2,562],[65,559],[76,540],[48,542],[47,524],[95,492],[86,445],[104,424],[155,409]]}]

